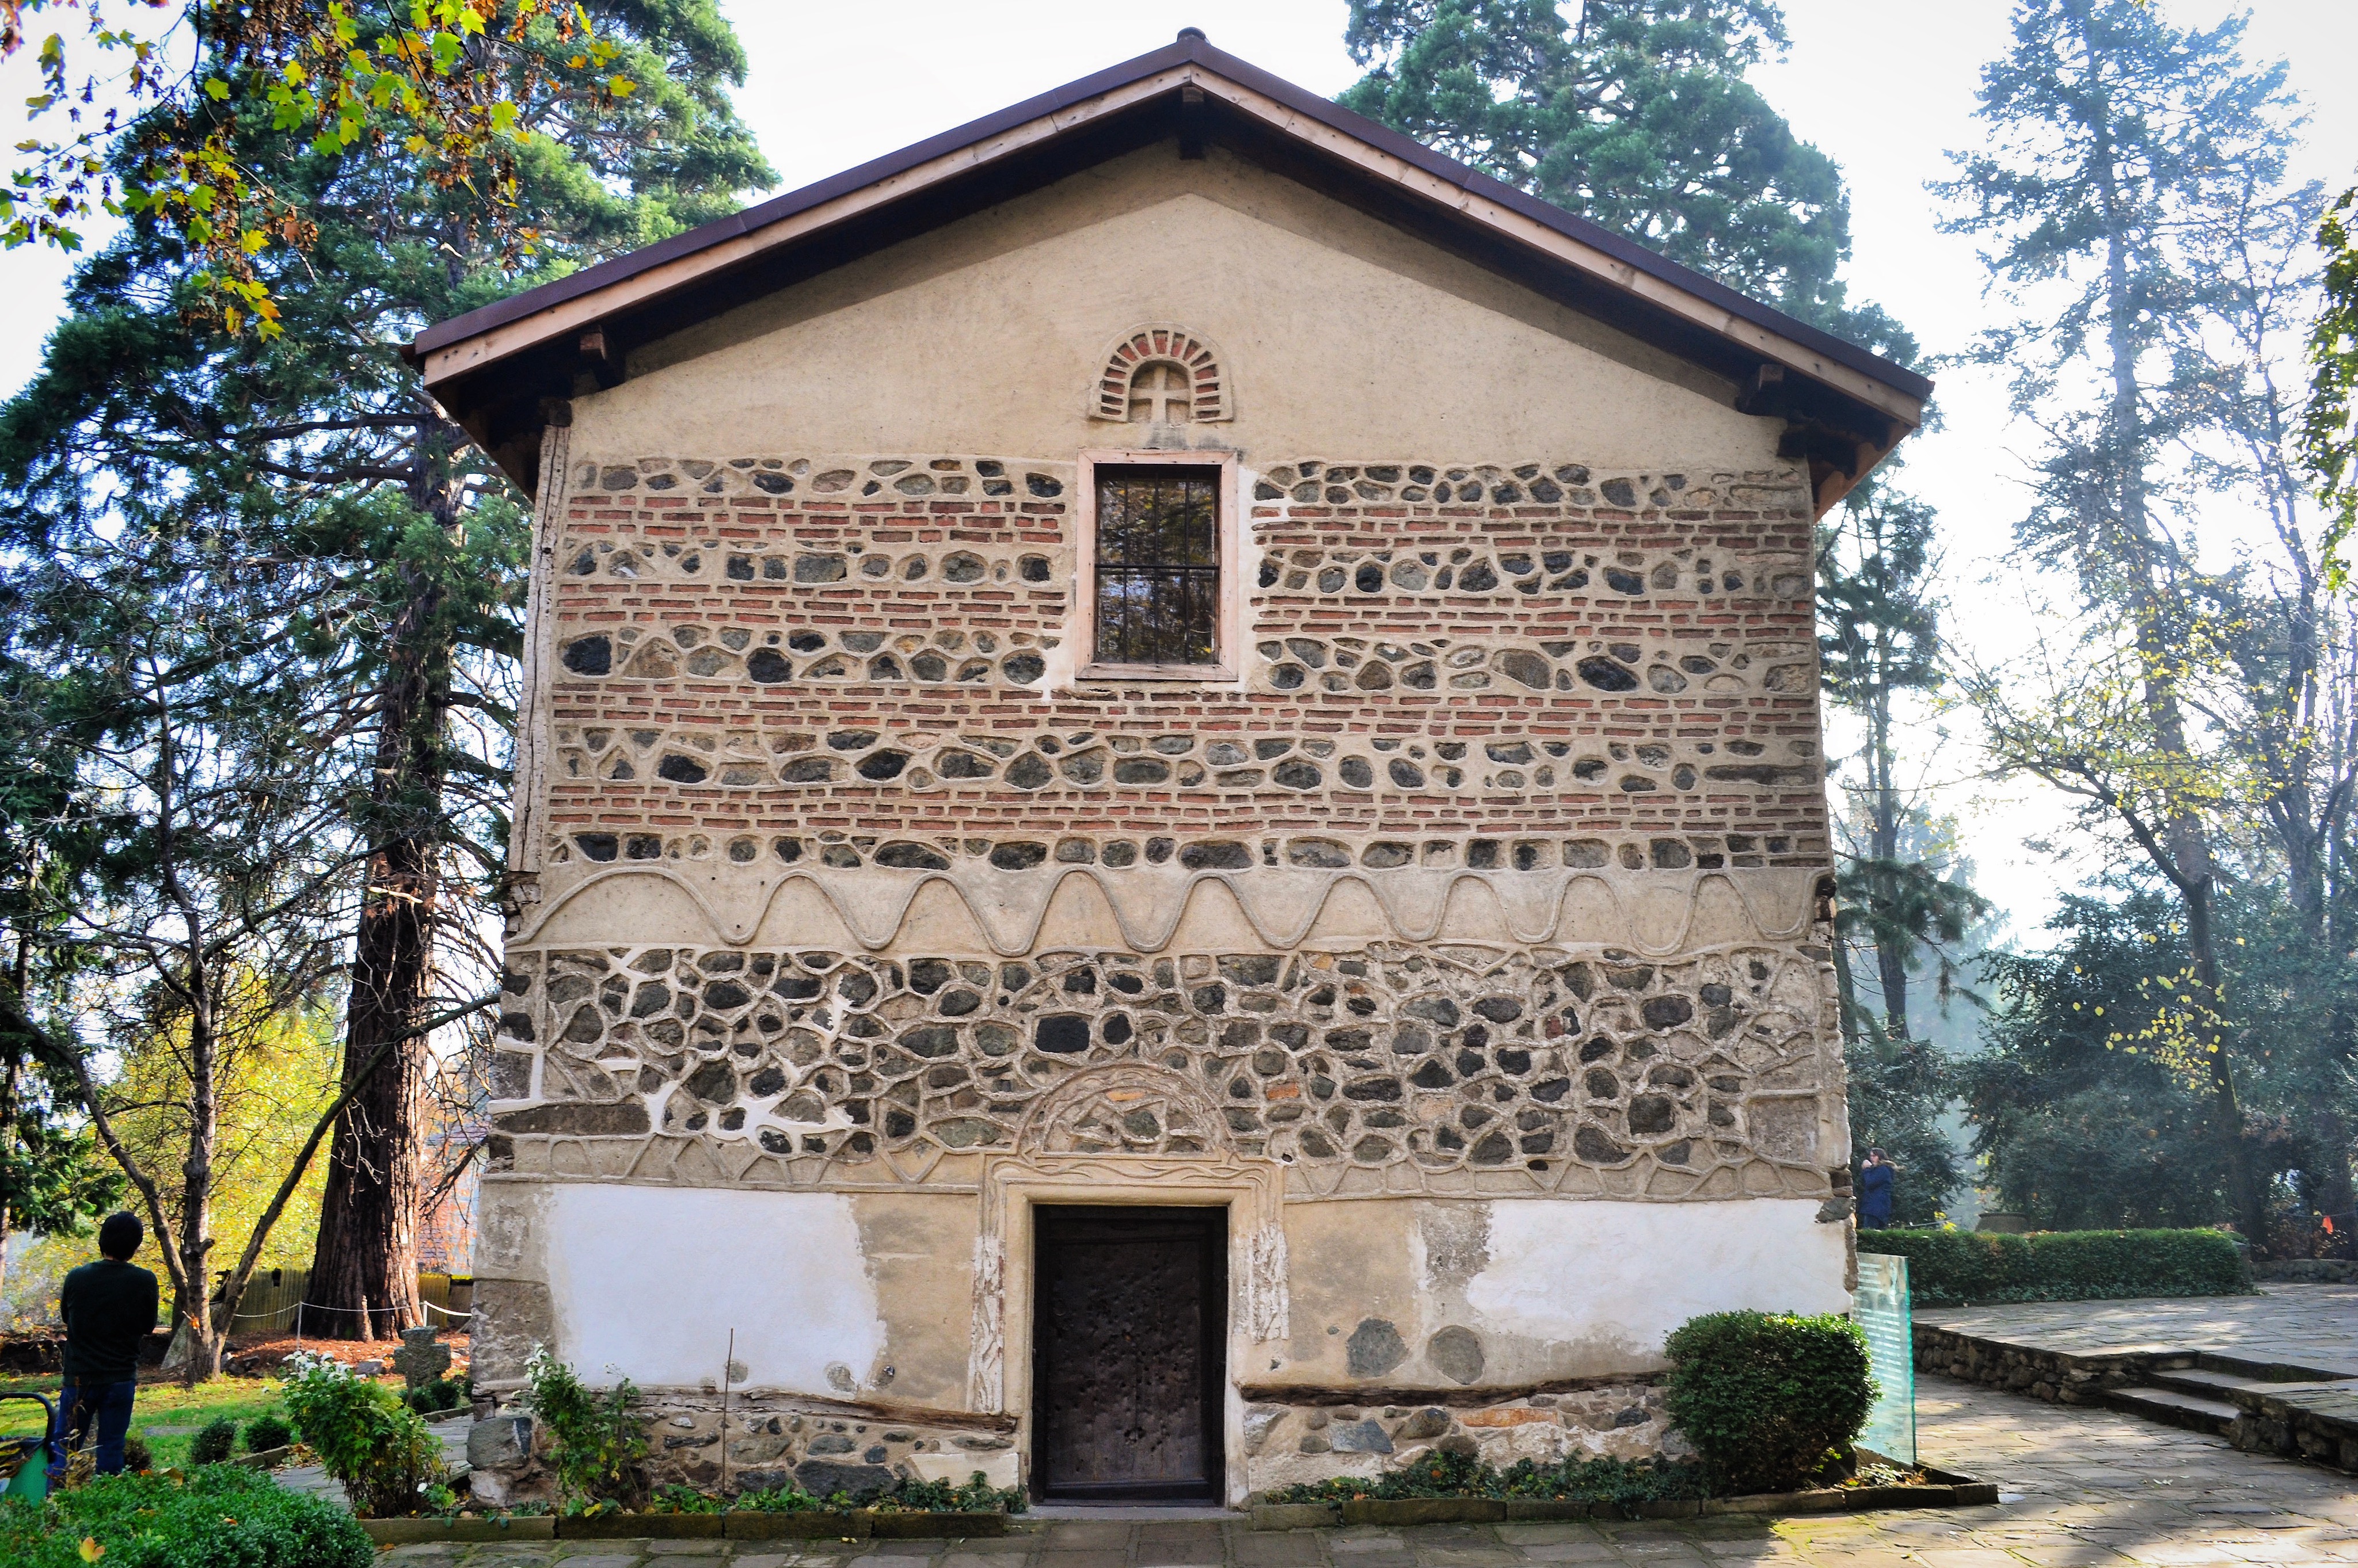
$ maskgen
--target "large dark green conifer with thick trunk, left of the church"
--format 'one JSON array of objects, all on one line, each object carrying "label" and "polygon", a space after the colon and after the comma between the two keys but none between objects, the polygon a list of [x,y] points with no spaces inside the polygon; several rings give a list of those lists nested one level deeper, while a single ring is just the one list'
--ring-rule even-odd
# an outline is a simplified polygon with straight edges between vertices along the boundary
[{"label": "large dark green conifer with thick trunk, left of the church", "polygon": [[[507,731],[526,519],[519,498],[424,394],[399,344],[420,325],[736,210],[771,182],[726,85],[745,59],[712,0],[590,7],[644,87],[594,120],[523,104],[535,132],[514,203],[535,233],[436,184],[401,144],[321,149],[243,104],[236,146],[316,222],[264,252],[283,332],[233,335],[200,309],[200,257],[156,222],[80,269],[35,382],[0,410],[0,490],[28,516],[87,526],[123,490],[167,493],[222,533],[245,582],[278,587],[290,644],[274,679],[332,700],[316,766],[342,780],[365,870],[307,1332],[415,1320],[424,1023],[453,1012],[439,962],[465,936],[453,898],[502,863]],[[384,1066],[363,1073],[370,1061]]]}]

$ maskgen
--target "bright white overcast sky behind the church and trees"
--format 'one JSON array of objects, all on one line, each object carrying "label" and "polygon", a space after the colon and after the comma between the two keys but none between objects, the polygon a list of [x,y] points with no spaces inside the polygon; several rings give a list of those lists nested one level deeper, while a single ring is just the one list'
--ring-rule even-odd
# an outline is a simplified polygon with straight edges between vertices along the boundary
[{"label": "bright white overcast sky behind the church and trees", "polygon": [[[2176,24],[2209,26],[2231,12],[2219,0],[2158,0]],[[1214,45],[1332,94],[1356,66],[1342,47],[1339,0],[898,0],[816,7],[724,0],[745,40],[752,75],[738,108],[780,174],[780,189],[823,179],[938,130],[990,113],[1200,26]],[[1875,299],[1905,321],[1931,351],[1957,349],[2000,316],[1983,302],[1983,271],[1967,238],[1936,229],[1926,179],[1948,172],[1950,149],[1974,146],[1974,87],[1983,61],[2007,45],[1997,0],[1787,0],[1792,52],[1754,73],[1794,130],[1825,149],[1851,182],[1853,299]],[[2346,184],[2358,156],[2358,5],[2351,0],[2261,0],[2247,38],[2252,59],[2287,59],[2313,123],[2297,174]],[[26,61],[0,71],[0,101],[26,92]],[[14,139],[14,137],[12,137]],[[38,363],[57,318],[64,262],[50,252],[0,255],[0,389],[17,389]],[[1952,627],[1988,655],[2002,655],[2026,627],[2018,597],[1995,556],[2023,507],[2028,434],[2007,417],[1990,377],[1941,375],[1945,429],[1908,443],[1908,483],[1938,505],[1945,528],[1945,592]],[[1997,580],[1990,580],[1997,573]],[[2023,837],[2063,818],[2028,790],[1969,783],[1971,724],[1936,747],[1919,738],[1926,778],[1952,780],[1941,799],[1964,816],[1983,889],[2035,927],[2070,868],[2026,851]]]}]

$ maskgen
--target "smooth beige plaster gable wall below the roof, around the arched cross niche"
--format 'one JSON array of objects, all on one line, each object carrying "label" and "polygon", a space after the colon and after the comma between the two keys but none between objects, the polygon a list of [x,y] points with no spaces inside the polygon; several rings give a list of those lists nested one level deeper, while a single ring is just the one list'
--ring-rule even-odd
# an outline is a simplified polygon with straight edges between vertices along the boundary
[{"label": "smooth beige plaster gable wall below the roof, around the arched cross niche", "polygon": [[1120,443],[1087,417],[1141,321],[1221,351],[1278,455],[1526,455],[1757,469],[1780,431],[1731,387],[1226,153],[1144,149],[788,288],[632,356],[575,401],[573,450],[957,450]]}]

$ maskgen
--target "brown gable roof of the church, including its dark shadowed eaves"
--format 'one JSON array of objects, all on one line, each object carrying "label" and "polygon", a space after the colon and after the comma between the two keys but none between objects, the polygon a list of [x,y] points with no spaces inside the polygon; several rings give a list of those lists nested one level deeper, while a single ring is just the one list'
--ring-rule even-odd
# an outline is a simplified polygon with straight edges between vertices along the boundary
[{"label": "brown gable roof of the church, including its dark shadowed eaves", "polygon": [[1931,382],[1644,245],[1304,92],[1186,28],[993,116],[422,330],[427,391],[526,490],[575,377],[1139,146],[1219,141],[1540,295],[1686,358],[1783,415],[1832,505],[1924,415]]}]

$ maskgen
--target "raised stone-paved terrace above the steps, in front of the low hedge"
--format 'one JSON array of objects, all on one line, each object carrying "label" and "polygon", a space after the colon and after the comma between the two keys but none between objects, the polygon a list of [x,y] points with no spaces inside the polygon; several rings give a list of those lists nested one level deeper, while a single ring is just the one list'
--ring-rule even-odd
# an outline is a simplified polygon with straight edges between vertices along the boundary
[{"label": "raised stone-paved terrace above the steps, in front of the low hedge", "polygon": [[2257,1297],[1945,1306],[1917,1311],[1915,1320],[2070,1356],[2221,1351],[2358,1375],[2358,1285],[2271,1283]]}]

